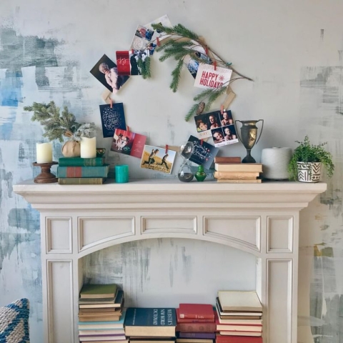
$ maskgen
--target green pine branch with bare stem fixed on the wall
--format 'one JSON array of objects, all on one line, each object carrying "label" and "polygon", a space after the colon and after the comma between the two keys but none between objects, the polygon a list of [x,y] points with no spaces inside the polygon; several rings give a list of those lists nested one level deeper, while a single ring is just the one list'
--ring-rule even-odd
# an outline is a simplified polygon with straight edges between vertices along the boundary
[{"label": "green pine branch with bare stem fixed on the wall", "polygon": [[[232,63],[222,59],[217,53],[207,46],[202,38],[200,38],[195,32],[187,29],[182,24],[177,24],[172,27],[164,26],[162,24],[152,24],[154,30],[164,32],[165,39],[162,41],[162,44],[156,47],[156,51],[163,52],[162,56],[159,58],[160,61],[165,61],[166,59],[173,58],[177,61],[177,66],[172,71],[172,81],[170,83],[170,89],[173,92],[176,92],[179,88],[179,81],[182,76],[182,68],[184,66],[184,59],[187,56],[190,56],[192,59],[195,59],[202,63],[214,64],[222,66],[227,69],[231,69],[233,73],[237,74],[238,77],[232,79],[230,82],[217,89],[205,89],[202,93],[194,97],[194,101],[201,101],[200,104],[207,99],[206,106],[204,110],[208,111],[214,101],[216,101],[219,96],[227,92],[229,89],[229,84],[231,85],[233,81],[238,79],[247,79],[253,81],[247,76],[240,74],[237,70],[232,67]],[[151,42],[149,42],[150,44]],[[206,51],[208,59],[201,59],[197,56],[197,48],[201,47]],[[150,61],[149,61],[150,62]],[[142,75],[144,79],[151,77],[150,63],[146,64],[144,67],[141,67]],[[185,120],[189,121],[194,114],[197,114],[199,109],[199,103],[194,104],[189,112],[185,116]]]}]

